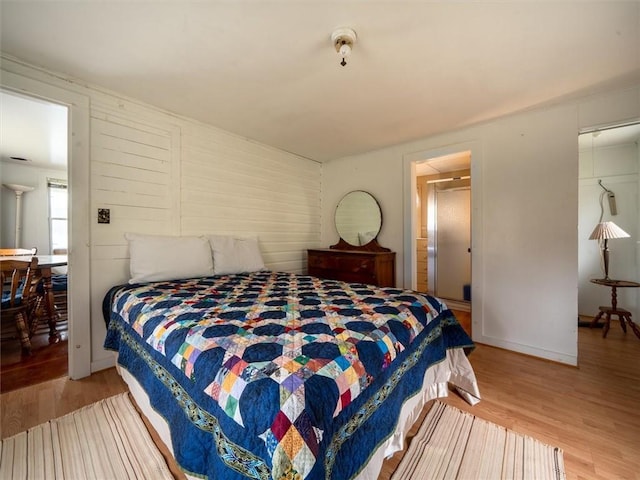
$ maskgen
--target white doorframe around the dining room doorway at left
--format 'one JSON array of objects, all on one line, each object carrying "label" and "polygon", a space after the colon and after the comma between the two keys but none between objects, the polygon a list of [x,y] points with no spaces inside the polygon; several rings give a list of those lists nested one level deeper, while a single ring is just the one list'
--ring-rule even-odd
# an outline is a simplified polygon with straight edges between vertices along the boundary
[{"label": "white doorframe around the dining room doorway at left", "polygon": [[[4,63],[4,62],[3,62]],[[69,377],[91,374],[89,97],[2,69],[0,88],[66,106],[69,182]]]}]

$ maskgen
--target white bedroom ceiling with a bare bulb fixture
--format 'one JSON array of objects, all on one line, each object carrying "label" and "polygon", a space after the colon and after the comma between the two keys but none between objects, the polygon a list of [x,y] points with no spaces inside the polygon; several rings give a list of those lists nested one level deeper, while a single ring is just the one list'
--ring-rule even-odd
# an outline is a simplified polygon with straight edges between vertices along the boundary
[{"label": "white bedroom ceiling with a bare bulb fixture", "polygon": [[[5,1],[2,52],[319,161],[640,82],[638,1]],[[330,36],[356,30],[348,65]]]}]

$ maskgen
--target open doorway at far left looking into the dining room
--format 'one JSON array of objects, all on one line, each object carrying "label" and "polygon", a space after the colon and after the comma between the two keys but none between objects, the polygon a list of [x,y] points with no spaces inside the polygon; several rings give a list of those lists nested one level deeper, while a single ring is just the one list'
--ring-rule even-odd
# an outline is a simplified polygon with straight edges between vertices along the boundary
[{"label": "open doorway at far left looking into the dining room", "polygon": [[[2,392],[68,373],[67,267],[62,265],[68,249],[68,110],[0,90],[0,247],[36,248],[40,273],[48,269],[47,275],[53,274],[51,304],[39,287],[42,307],[32,319],[31,355],[22,355],[12,322],[2,322]],[[56,259],[54,254],[59,254]],[[47,306],[55,308],[55,335],[50,334]]]}]

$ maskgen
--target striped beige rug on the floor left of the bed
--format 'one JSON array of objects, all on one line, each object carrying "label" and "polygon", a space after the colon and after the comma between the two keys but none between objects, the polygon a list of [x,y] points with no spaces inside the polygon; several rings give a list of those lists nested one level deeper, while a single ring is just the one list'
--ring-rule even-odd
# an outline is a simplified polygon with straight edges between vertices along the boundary
[{"label": "striped beige rug on the floor left of the bed", "polygon": [[127,393],[2,440],[0,478],[173,479]]}]

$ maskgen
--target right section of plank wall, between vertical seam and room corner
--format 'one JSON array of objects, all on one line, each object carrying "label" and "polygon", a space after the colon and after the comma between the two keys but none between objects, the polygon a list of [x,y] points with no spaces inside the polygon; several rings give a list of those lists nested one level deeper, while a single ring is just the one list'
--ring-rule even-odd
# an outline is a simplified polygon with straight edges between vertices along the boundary
[{"label": "right section of plank wall, between vertical seam and room corner", "polygon": [[321,164],[189,125],[182,168],[184,234],[257,235],[267,267],[306,269],[320,242]]}]

